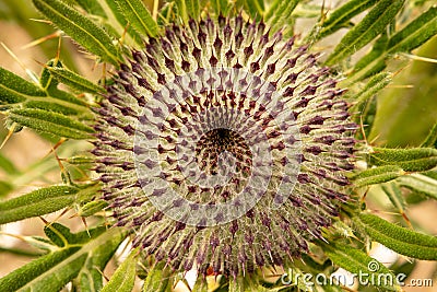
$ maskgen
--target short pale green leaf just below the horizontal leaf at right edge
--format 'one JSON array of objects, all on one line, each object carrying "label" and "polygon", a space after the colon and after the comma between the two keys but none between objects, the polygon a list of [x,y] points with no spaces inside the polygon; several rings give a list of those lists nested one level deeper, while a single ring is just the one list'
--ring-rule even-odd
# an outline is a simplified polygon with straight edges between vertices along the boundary
[{"label": "short pale green leaf just below the horizontal leaf at right edge", "polygon": [[381,184],[393,180],[404,174],[397,165],[385,165],[361,172],[353,177],[356,187]]}]

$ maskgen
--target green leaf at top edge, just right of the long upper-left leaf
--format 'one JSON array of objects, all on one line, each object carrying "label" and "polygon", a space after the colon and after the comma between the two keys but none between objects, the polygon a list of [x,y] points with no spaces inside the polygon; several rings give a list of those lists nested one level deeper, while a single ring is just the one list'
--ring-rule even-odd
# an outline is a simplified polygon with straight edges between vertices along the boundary
[{"label": "green leaf at top edge, just right of the long upper-left leaf", "polygon": [[115,0],[126,20],[142,35],[156,36],[157,25],[141,0]]}]

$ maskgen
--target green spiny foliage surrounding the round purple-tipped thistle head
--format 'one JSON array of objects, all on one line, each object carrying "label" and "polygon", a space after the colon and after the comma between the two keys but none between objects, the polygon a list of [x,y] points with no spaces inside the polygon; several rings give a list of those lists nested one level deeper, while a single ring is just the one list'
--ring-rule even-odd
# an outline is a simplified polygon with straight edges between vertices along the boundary
[{"label": "green spiny foliage surrounding the round purple-tipped thistle head", "polygon": [[[42,72],[27,72],[24,79],[0,69],[0,108],[5,120],[1,135],[4,140],[9,133],[28,128],[54,145],[61,160],[58,162],[51,153],[21,168],[0,153],[0,224],[45,217],[66,208],[90,224],[88,229],[72,232],[58,222],[46,222],[44,236],[21,237],[26,243],[23,248],[0,242],[1,253],[34,259],[1,278],[0,291],[58,291],[69,282],[73,291],[131,291],[135,279],[143,291],[170,291],[182,279],[182,275],[172,273],[163,266],[139,264],[138,250],[132,250],[122,264],[114,256],[130,235],[129,231],[109,227],[111,222],[103,211],[105,202],[98,198],[99,186],[90,179],[92,156],[86,154],[90,145],[84,140],[93,131],[90,122],[94,116],[88,107],[101,98],[107,80],[98,80],[99,73],[90,77],[87,71],[94,62],[99,63],[96,71],[104,70],[103,63],[109,71],[118,67],[127,50],[116,39],[123,37],[125,45],[141,47],[141,38],[158,35],[163,25],[184,24],[206,13],[235,15],[243,11],[246,17],[262,19],[272,31],[283,28],[287,36],[300,33],[303,43],[310,43],[314,51],[326,51],[324,62],[344,75],[342,85],[349,87],[351,110],[356,114],[355,120],[364,125],[365,136],[357,133],[362,141],[361,167],[351,177],[358,201],[345,206],[344,220],[327,231],[329,244],[316,243],[312,254],[304,257],[306,265],[295,262],[293,271],[328,276],[338,267],[352,272],[367,271],[373,260],[368,256],[370,242],[379,242],[405,257],[437,260],[436,237],[418,222],[409,220],[410,208],[424,202],[436,206],[437,199],[434,1],[351,0],[340,1],[331,10],[328,3],[322,7],[320,1],[297,0],[175,0],[158,5],[144,5],[140,0],[32,2],[1,0],[1,20],[16,23],[38,39],[56,30],[31,19],[46,17],[60,30],[59,35],[69,35],[74,42],[62,40],[59,59],[57,37],[38,44],[45,56],[44,60],[38,59],[46,65]],[[78,61],[84,57],[78,51],[83,50],[88,51],[85,56],[92,57],[92,61]],[[45,187],[26,192],[23,187],[35,182],[45,182]],[[393,214],[390,221],[395,223],[374,213],[386,218]],[[107,282],[102,271],[111,258],[118,268]],[[410,275],[415,262],[398,261],[390,269],[380,265],[374,275]],[[435,276],[436,265],[433,269]],[[308,289],[303,282],[292,287],[269,282],[261,272],[231,281],[221,278],[215,284],[214,290],[210,283],[210,291]],[[206,291],[206,287],[199,279],[193,291]],[[398,285],[358,288],[375,289],[401,290]]]}]

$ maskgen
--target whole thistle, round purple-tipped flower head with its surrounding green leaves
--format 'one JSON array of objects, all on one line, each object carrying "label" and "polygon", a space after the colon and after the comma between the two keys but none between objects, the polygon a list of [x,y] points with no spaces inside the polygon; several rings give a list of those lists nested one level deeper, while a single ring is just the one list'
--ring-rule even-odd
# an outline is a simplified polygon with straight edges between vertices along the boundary
[{"label": "whole thistle, round purple-tipped flower head with its surrounding green leaves", "polygon": [[[198,273],[192,291],[341,291],[339,282],[293,278],[329,279],[338,268],[367,275],[354,289],[395,291],[402,283],[373,281],[402,270],[371,258],[371,242],[437,259],[436,237],[389,223],[365,203],[370,197],[371,208],[409,224],[405,194],[436,198],[436,126],[417,148],[366,141],[381,116],[375,96],[391,82],[390,60],[433,61],[412,50],[437,34],[436,7],[176,0],[155,1],[150,12],[140,0],[33,3],[105,72],[96,84],[71,70],[69,55],[32,73],[36,82],[0,69],[10,135],[48,133],[62,178],[1,201],[0,224],[64,208],[96,221],[78,233],[47,222],[47,240],[22,237],[46,254],[1,278],[0,291],[68,283],[131,291],[137,276],[143,291],[172,291],[188,271]],[[412,20],[412,11],[423,13]],[[299,33],[303,19],[314,20],[309,33]],[[333,48],[321,49],[341,28]],[[36,170],[52,166],[44,163]],[[12,182],[0,182],[0,191],[27,182],[7,157],[0,166]],[[391,209],[378,205],[381,194]],[[127,238],[132,249],[104,285],[102,271]]]}]

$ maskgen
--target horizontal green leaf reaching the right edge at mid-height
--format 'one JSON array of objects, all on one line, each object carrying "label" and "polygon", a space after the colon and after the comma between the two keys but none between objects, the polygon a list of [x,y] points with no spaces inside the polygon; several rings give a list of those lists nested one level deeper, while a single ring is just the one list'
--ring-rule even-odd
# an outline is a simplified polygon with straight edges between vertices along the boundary
[{"label": "horizontal green leaf reaching the right edge at mid-height", "polygon": [[398,165],[405,172],[424,172],[437,165],[437,150],[432,148],[374,148],[370,162],[379,166]]}]

